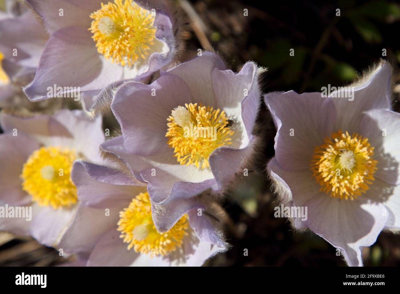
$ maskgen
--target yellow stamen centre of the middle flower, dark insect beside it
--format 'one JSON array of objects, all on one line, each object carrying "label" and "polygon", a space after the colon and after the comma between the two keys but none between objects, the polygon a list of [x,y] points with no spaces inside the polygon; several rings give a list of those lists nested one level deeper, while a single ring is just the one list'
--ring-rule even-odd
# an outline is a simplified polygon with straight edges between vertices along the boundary
[{"label": "yellow stamen centre of the middle flower, dark insect beside it", "polygon": [[178,106],[167,119],[168,145],[180,164],[209,167],[208,156],[217,147],[230,144],[234,133],[224,111],[190,103]]}]

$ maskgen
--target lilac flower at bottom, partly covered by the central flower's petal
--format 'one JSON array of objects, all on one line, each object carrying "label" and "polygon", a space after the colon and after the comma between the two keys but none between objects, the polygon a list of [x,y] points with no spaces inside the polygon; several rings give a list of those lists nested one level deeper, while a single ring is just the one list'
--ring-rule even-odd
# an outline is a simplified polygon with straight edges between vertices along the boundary
[{"label": "lilac flower at bottom, partly covered by the central flower's petal", "polygon": [[150,204],[144,183],[84,161],[74,164],[71,177],[80,204],[59,246],[90,252],[88,266],[201,266],[226,250],[217,229],[220,208],[212,201],[197,197],[170,230],[159,233],[152,213],[164,206]]}]

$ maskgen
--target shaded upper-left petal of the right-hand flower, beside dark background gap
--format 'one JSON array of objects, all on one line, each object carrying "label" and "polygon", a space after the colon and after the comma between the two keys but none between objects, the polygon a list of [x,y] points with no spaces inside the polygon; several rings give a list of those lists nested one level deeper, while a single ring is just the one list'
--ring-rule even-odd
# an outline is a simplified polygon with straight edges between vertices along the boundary
[{"label": "shaded upper-left petal of the right-hand flower, beside dark background gap", "polygon": [[334,131],[336,108],[321,93],[294,91],[269,93],[264,97],[278,132],[275,157],[287,170],[308,169],[314,148]]}]

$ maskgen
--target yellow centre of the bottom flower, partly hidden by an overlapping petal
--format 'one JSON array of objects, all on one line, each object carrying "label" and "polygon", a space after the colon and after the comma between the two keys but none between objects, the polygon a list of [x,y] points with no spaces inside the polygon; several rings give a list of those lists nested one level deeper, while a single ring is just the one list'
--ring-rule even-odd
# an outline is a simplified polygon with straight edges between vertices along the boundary
[{"label": "yellow centre of the bottom flower, partly hidden by an overlapping petal", "polygon": [[157,232],[146,192],[133,198],[128,208],[120,212],[117,230],[121,232],[120,238],[124,238],[124,243],[128,243],[128,250],[133,247],[138,253],[164,256],[182,246],[183,237],[188,235],[188,226],[188,216],[184,214],[168,232]]}]

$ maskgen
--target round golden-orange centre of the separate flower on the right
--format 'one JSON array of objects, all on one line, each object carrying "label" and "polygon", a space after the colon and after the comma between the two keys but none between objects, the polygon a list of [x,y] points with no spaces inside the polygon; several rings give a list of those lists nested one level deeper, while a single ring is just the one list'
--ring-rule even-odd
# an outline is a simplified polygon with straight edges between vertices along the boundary
[{"label": "round golden-orange centre of the separate flower on the right", "polygon": [[320,191],[331,197],[357,199],[369,189],[374,181],[376,160],[372,159],[374,147],[367,138],[358,134],[350,136],[339,130],[324,144],[314,149],[311,170],[316,182],[321,185]]}]

